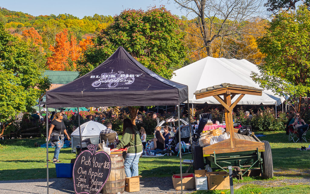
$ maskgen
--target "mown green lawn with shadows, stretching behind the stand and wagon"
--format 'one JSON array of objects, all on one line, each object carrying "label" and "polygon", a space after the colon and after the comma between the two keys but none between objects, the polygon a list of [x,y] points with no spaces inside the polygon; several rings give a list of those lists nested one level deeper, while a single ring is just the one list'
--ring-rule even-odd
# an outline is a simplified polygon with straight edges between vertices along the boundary
[{"label": "mown green lawn with shadows, stretching behind the stand and wagon", "polygon": [[[270,142],[273,155],[273,166],[277,178],[301,178],[308,176],[310,151],[299,151],[296,148],[308,147],[310,143],[289,143],[285,132],[264,132],[261,140]],[[152,138],[148,135],[147,139]],[[34,143],[44,143],[43,138],[11,139],[0,141],[0,180],[21,180],[46,178],[46,148],[35,148]],[[49,148],[49,159],[54,155],[54,148]],[[60,150],[59,158],[63,163],[70,163],[75,157],[71,148]],[[191,159],[186,154],[182,159]],[[179,157],[142,157],[139,162],[139,174],[143,177],[171,176],[179,173]],[[187,169],[183,165],[183,172]],[[301,173],[302,172],[302,173]],[[49,163],[49,177],[55,178],[55,164]],[[259,178],[254,178],[259,179]],[[245,178],[245,181],[253,178]],[[297,186],[296,186],[297,187]],[[242,187],[243,188],[243,187]],[[309,189],[304,187],[302,189]],[[264,191],[264,193],[268,191]],[[198,192],[197,192],[198,193]],[[263,192],[262,192],[263,193]],[[280,193],[280,192],[279,192]],[[284,193],[284,192],[283,192]],[[309,192],[307,192],[309,193]]]}]

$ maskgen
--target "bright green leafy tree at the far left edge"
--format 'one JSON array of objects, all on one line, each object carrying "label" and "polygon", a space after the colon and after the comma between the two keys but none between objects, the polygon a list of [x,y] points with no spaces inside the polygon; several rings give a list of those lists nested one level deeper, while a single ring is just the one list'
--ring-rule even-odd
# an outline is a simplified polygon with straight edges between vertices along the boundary
[{"label": "bright green leafy tree at the far left edge", "polygon": [[[0,22],[0,122],[7,123],[29,111],[50,82],[33,62],[27,44],[9,34]],[[4,126],[4,127],[3,127]],[[6,125],[0,129],[0,137]]]}]

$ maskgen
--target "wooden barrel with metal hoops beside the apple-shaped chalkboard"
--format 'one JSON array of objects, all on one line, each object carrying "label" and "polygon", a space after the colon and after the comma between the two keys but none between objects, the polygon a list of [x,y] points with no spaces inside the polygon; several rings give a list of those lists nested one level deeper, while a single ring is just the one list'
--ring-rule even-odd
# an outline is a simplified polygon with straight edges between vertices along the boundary
[{"label": "wooden barrel with metal hoops beside the apple-shaped chalkboard", "polygon": [[118,194],[125,190],[125,166],[122,154],[110,154],[111,172],[101,190],[105,194]]}]

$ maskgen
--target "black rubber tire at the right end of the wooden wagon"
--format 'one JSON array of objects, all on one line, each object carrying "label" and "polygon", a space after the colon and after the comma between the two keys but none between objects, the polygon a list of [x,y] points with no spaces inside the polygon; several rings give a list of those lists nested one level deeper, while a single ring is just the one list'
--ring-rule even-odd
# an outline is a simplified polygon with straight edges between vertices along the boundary
[{"label": "black rubber tire at the right end of the wooden wagon", "polygon": [[261,157],[263,158],[263,178],[272,178],[273,177],[273,161],[272,161],[272,152],[270,144],[268,141],[262,141],[265,144],[265,151],[261,152]]}]

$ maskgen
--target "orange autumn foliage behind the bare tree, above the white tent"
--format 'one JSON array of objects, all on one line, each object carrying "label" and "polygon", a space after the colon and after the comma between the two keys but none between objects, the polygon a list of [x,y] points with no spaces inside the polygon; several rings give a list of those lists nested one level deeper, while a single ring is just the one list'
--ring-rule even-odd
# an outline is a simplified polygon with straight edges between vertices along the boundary
[{"label": "orange autumn foliage behind the bare tree, above the white tent", "polygon": [[[204,40],[197,34],[200,32],[197,20],[186,20],[185,41],[188,47],[188,58],[190,62],[198,61],[207,55]],[[265,34],[267,20],[255,18],[253,20],[240,22],[243,30],[240,34],[222,36],[213,41],[212,56],[219,58],[246,59],[254,64],[261,64],[264,55],[259,51],[256,40]]]}]

